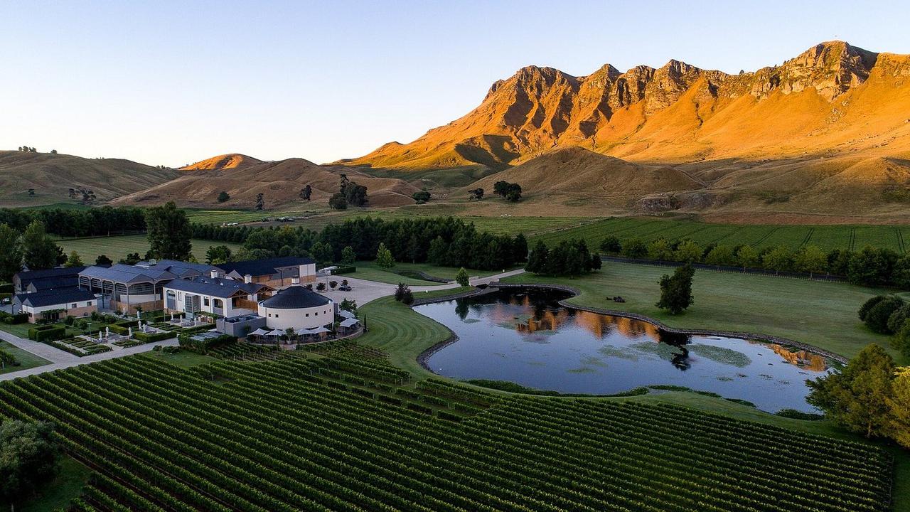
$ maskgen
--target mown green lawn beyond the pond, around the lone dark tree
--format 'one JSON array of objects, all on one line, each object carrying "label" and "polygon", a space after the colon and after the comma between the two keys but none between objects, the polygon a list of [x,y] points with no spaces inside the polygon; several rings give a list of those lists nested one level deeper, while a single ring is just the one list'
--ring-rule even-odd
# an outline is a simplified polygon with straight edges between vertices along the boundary
[{"label": "mown green lawn beyond the pond, around the lone dark tree", "polygon": [[[672,268],[605,262],[602,271],[578,279],[521,274],[504,281],[567,284],[581,291],[571,303],[637,312],[672,327],[774,334],[847,357],[868,343],[888,346],[888,337],[866,329],[856,311],[869,297],[889,291],[839,282],[696,271],[695,303],[673,316],[654,305],[660,295],[657,281],[669,272]],[[626,302],[612,302],[616,295]]]}]

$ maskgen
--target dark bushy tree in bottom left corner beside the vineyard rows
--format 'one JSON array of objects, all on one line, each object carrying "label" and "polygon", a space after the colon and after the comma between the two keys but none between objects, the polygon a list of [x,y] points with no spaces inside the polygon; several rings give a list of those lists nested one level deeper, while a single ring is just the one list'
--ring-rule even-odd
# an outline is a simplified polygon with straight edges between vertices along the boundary
[{"label": "dark bushy tree in bottom left corner beside the vineyard rows", "polygon": [[53,424],[15,420],[0,424],[0,496],[10,510],[56,476],[60,454]]}]

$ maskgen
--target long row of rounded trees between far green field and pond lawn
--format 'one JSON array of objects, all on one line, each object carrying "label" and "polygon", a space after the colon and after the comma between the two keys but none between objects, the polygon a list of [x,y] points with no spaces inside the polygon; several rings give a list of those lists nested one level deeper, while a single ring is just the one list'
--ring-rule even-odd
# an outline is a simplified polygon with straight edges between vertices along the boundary
[{"label": "long row of rounded trees between far green field and pond lawn", "polygon": [[843,276],[864,286],[896,286],[910,289],[910,254],[865,246],[860,251],[834,249],[825,252],[807,245],[796,251],[786,245],[757,250],[751,245],[699,245],[694,241],[657,239],[645,243],[632,238],[605,238],[601,251],[627,258],[705,263],[722,267],[805,272]]}]

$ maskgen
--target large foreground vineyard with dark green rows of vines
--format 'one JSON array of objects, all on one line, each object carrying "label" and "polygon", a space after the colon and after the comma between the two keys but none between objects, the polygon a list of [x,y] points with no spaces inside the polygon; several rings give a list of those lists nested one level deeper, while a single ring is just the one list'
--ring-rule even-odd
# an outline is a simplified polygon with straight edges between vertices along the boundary
[{"label": "large foreground vineyard with dark green rows of vines", "polygon": [[891,460],[670,405],[504,397],[335,344],[0,384],[96,470],[76,510],[884,511]]}]

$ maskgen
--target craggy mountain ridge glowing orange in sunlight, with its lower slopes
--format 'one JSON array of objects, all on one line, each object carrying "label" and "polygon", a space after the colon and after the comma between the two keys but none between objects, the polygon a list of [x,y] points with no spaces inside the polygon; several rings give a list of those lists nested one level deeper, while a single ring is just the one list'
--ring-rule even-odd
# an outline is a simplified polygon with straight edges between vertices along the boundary
[{"label": "craggy mountain ridge glowing orange in sunlight, with its lower slopes", "polygon": [[[531,66],[495,82],[464,117],[338,163],[403,178],[428,169],[507,173],[473,188],[506,176],[521,183],[521,172],[541,167],[565,181],[559,173],[584,167],[567,156],[590,155],[560,153],[561,165],[553,167],[548,154],[585,148],[642,169],[676,169],[699,183],[682,193],[622,189],[627,209],[895,218],[910,204],[908,112],[910,56],[841,41],[737,75],[676,60],[624,73],[608,64],[586,77]],[[546,160],[527,165],[538,158]],[[547,197],[572,192],[550,190]],[[601,197],[612,202],[614,192]]]}]

